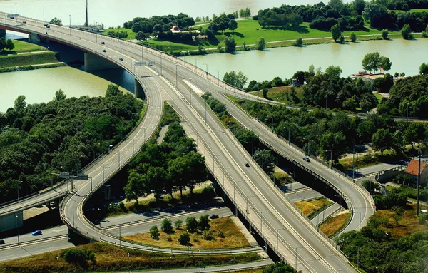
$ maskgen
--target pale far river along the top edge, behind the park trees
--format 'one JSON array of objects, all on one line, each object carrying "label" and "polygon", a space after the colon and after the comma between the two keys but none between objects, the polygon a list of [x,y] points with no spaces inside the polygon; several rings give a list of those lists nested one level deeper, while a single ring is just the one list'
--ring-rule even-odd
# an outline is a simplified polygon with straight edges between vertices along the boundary
[{"label": "pale far river along the top edge, behind the park trees", "polygon": [[[344,2],[350,2],[345,0]],[[123,22],[134,17],[150,17],[153,15],[179,14],[183,12],[189,16],[209,16],[222,12],[230,13],[249,7],[251,13],[257,14],[259,9],[272,8],[282,4],[300,5],[317,4],[320,0],[88,0],[89,24],[104,24],[108,26],[123,25]],[[325,1],[327,4],[328,1]],[[16,5],[15,5],[16,3]],[[71,24],[83,24],[86,21],[86,2],[84,0],[0,0],[0,11],[10,14],[15,11],[23,16],[51,21],[57,17],[68,25],[71,15]]]}]

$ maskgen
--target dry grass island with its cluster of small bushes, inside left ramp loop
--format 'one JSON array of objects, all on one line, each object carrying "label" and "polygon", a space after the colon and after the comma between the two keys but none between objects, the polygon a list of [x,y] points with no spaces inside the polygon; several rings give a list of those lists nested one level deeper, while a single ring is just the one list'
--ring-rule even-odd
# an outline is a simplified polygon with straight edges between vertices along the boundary
[{"label": "dry grass island with its cluster of small bushes, inside left ramp loop", "polygon": [[[164,222],[170,222],[168,229],[165,229],[163,222],[161,227],[152,227],[153,230],[158,230],[158,233],[151,228],[151,232],[123,236],[123,238],[132,242],[160,247],[190,247],[192,251],[195,249],[235,249],[251,246],[230,217],[209,220],[208,215],[203,215],[198,222],[195,222],[195,217],[188,217],[184,222],[187,225],[180,225],[181,221],[172,223],[168,218],[166,219]],[[193,225],[198,228],[190,228]],[[157,236],[155,236],[156,234]]]}]

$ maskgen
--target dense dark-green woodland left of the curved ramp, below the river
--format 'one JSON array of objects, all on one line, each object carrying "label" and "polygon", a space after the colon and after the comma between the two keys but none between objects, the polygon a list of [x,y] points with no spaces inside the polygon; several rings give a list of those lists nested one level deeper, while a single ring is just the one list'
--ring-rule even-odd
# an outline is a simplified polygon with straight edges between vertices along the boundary
[{"label": "dense dark-green woodland left of the curved ramp, below the river", "polygon": [[29,195],[59,179],[51,173],[76,174],[118,143],[138,123],[143,103],[118,86],[105,97],[66,98],[27,105],[25,96],[0,113],[0,202]]}]

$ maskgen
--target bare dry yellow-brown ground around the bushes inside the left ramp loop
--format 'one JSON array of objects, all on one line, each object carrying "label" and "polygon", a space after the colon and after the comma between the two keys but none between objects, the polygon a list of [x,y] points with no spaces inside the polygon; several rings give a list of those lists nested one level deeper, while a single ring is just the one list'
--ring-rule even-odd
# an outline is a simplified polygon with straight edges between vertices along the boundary
[{"label": "bare dry yellow-brown ground around the bushes inside the left ramp loop", "polygon": [[[219,219],[213,219],[210,221],[211,228],[213,231],[214,239],[205,240],[202,232],[195,232],[190,234],[190,247],[193,249],[227,249],[227,248],[238,248],[238,247],[250,247],[248,239],[240,232],[240,229],[235,225],[230,217],[222,217]],[[160,227],[158,227],[160,228]],[[174,247],[174,248],[187,248],[187,246],[180,245],[178,237],[186,232],[185,226],[181,227],[180,230],[173,230],[173,232],[165,233],[161,230],[159,239],[153,239],[149,233],[139,233],[136,235],[123,236],[123,238],[141,242],[143,244],[151,244],[162,247]],[[220,237],[220,232],[223,232],[224,238]]]}]

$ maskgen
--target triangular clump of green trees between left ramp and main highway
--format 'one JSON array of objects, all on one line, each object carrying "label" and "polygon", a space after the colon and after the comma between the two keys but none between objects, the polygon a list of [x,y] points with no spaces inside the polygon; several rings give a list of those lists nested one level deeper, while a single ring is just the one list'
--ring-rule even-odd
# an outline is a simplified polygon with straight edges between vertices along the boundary
[{"label": "triangular clump of green trees between left ramp and main highway", "polygon": [[[168,107],[166,111],[172,109]],[[170,123],[163,142],[149,141],[131,160],[128,183],[124,189],[128,200],[138,202],[138,197],[150,194],[154,194],[156,199],[165,194],[172,197],[177,190],[183,195],[186,187],[191,194],[195,185],[206,180],[205,158],[196,153],[194,141],[185,136],[177,121],[178,116],[172,116],[169,122],[175,121]]]}]

